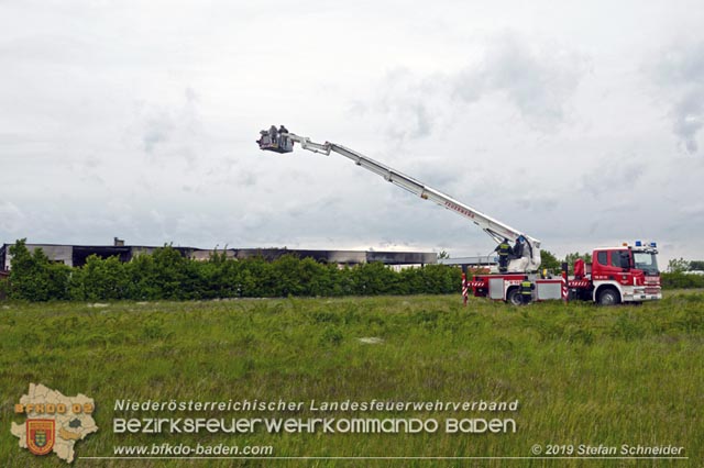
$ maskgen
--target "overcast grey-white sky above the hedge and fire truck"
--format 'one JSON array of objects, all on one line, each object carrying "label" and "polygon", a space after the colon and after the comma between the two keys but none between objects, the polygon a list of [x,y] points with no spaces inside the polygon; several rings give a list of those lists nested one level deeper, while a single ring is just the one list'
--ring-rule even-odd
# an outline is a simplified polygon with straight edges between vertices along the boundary
[{"label": "overcast grey-white sky above the hedge and fire truck", "polygon": [[702,24],[698,1],[0,0],[0,243],[493,249],[343,157],[260,152],[285,124],[560,256],[704,259]]}]

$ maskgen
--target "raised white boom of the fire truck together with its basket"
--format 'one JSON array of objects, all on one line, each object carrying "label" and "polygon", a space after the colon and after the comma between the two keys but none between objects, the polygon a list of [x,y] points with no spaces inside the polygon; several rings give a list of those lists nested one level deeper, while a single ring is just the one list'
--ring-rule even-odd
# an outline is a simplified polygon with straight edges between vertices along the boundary
[{"label": "raised white boom of the fire truck together with its basket", "polygon": [[[326,156],[330,156],[331,153],[337,153],[352,159],[352,161],[358,166],[383,177],[385,180],[400,187],[402,189],[408,190],[424,200],[430,200],[453,213],[469,219],[488,234],[496,243],[502,243],[505,239],[515,243],[515,245],[519,247],[517,248],[517,250],[520,250],[519,255],[509,256],[506,271],[501,272],[525,274],[537,271],[540,268],[540,241],[537,238],[526,235],[522,232],[497,221],[437,189],[433,189],[432,187],[426,186],[413,177],[406,176],[396,169],[345,146],[330,142],[316,143],[310,141],[307,136],[299,136],[288,132],[284,126],[282,126],[280,130],[280,132],[276,131],[276,129],[272,126],[268,131],[261,131],[260,140],[256,142],[260,145],[260,149],[282,154],[290,153],[294,151],[294,144],[298,143],[304,149],[323,154]],[[498,267],[493,266],[492,272],[499,272]]]}]

